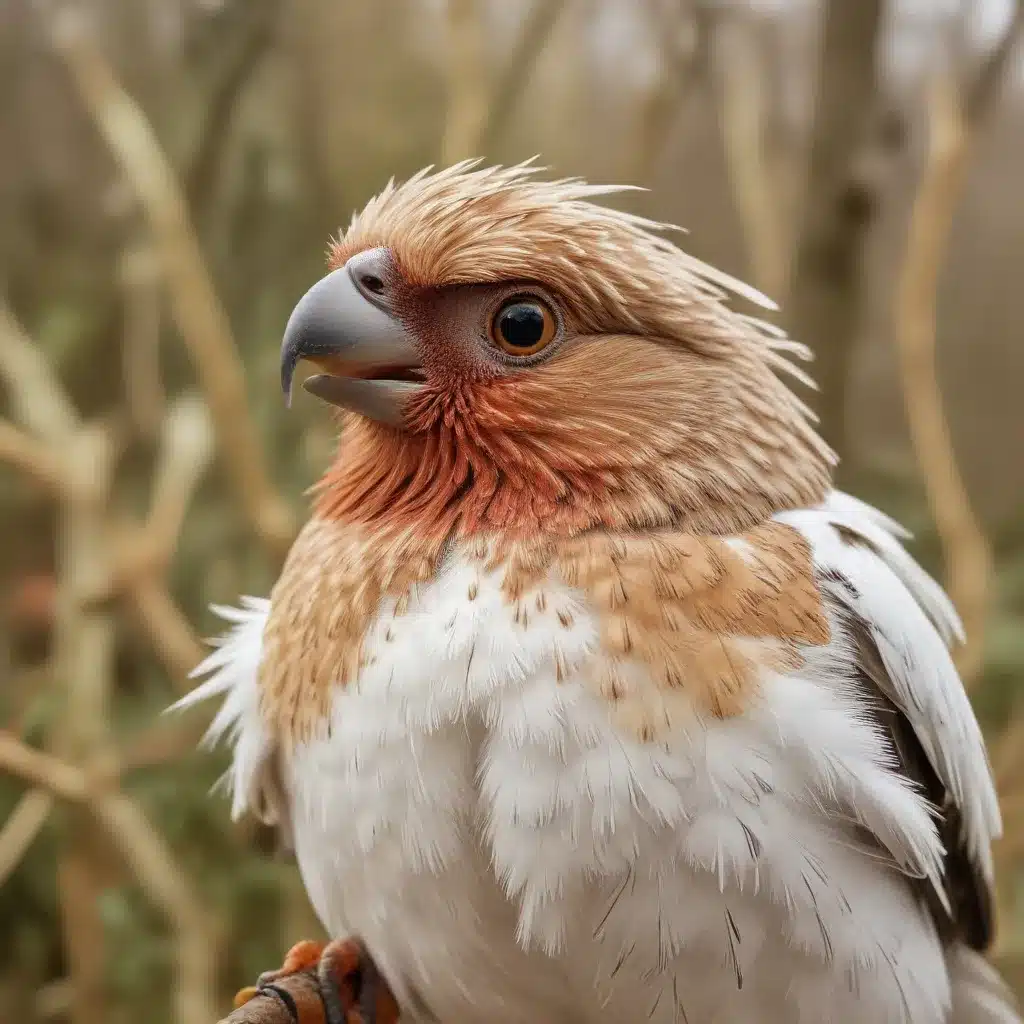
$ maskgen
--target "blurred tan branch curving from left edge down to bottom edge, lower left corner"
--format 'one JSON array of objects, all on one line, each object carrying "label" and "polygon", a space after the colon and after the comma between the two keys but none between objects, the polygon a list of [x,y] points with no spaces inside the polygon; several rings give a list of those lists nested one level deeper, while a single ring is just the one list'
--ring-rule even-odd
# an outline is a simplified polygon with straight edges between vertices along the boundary
[{"label": "blurred tan branch curving from left edge down to bottom edge, lower left corner", "polygon": [[0,730],[0,768],[54,796],[84,804],[103,825],[153,903],[174,927],[178,950],[175,985],[179,1024],[197,1024],[216,1017],[210,928],[202,904],[138,807],[120,793],[104,793],[89,784],[85,773],[59,758],[25,745]]}]

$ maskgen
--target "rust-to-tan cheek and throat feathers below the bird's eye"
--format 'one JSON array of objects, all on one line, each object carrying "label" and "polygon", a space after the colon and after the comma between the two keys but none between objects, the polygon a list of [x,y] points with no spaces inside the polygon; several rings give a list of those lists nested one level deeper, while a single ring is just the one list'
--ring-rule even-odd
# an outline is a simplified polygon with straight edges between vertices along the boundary
[{"label": "rust-to-tan cheek and throat feathers below the bird's eye", "polygon": [[515,377],[426,389],[408,430],[349,420],[315,512],[433,536],[742,529],[829,484],[786,394],[742,352],[586,339]]}]

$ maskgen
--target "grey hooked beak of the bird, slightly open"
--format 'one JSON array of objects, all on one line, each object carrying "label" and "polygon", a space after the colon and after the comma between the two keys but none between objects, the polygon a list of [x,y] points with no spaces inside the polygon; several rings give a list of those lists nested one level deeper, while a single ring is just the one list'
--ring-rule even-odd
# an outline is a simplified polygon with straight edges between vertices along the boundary
[{"label": "grey hooked beak of the bird, slightly open", "polygon": [[423,387],[413,337],[388,304],[387,253],[370,250],[316,282],[299,299],[281,345],[281,386],[291,400],[300,359],[325,371],[302,386],[332,406],[400,427]]}]

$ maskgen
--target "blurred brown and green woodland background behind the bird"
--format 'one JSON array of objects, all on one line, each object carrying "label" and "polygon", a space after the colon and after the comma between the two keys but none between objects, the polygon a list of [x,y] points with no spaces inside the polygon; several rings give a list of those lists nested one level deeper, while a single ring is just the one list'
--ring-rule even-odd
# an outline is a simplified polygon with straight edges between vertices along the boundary
[{"label": "blurred brown and green woodland background behind the bird", "polygon": [[1024,992],[1024,51],[1013,0],[0,0],[0,1019],[212,1024],[318,934],[197,753],[332,427],[278,384],[391,176],[649,191],[816,351],[840,482],[967,621]]}]

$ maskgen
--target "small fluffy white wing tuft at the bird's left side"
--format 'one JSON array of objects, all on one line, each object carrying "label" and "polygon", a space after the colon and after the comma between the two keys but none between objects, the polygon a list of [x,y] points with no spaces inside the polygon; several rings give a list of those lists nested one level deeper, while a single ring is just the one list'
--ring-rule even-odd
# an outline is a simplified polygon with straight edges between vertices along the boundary
[{"label": "small fluffy white wing tuft at the bird's left side", "polygon": [[212,746],[226,740],[231,746],[231,765],[223,779],[231,795],[231,817],[252,813],[263,824],[276,826],[291,845],[278,748],[259,713],[257,674],[270,602],[245,597],[241,607],[217,606],[213,610],[230,628],[213,641],[216,649],[193,672],[194,677],[206,677],[205,682],[168,711],[183,711],[211,697],[221,698],[203,742]]}]

